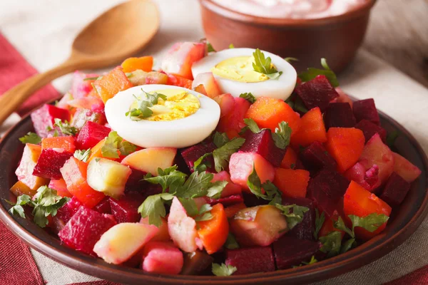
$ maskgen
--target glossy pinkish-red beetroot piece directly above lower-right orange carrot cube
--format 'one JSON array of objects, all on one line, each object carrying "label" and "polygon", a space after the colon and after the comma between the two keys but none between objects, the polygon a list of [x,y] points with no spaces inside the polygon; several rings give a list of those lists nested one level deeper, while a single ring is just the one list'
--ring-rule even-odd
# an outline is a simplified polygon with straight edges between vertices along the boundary
[{"label": "glossy pinkish-red beetroot piece directly above lower-right orange carrot cube", "polygon": [[377,165],[373,165],[369,170],[366,170],[360,162],[357,162],[345,172],[345,177],[347,177],[347,180],[354,180],[370,192],[376,190],[381,184]]}]

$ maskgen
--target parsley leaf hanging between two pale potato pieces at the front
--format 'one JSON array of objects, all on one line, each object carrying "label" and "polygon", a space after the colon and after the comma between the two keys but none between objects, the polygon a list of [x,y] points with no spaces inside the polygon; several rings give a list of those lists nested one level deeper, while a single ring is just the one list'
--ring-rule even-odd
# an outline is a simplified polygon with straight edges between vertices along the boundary
[{"label": "parsley leaf hanging between two pale potato pieces at the front", "polygon": [[161,217],[165,217],[166,215],[164,203],[165,201],[170,201],[173,197],[174,195],[170,193],[151,195],[138,207],[138,213],[140,213],[143,218],[148,217],[149,224],[161,227]]}]

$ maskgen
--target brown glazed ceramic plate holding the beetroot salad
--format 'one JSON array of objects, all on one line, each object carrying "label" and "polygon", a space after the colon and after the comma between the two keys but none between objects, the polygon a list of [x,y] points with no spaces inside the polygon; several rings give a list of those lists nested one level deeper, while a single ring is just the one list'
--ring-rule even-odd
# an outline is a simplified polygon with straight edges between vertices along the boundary
[{"label": "brown glazed ceramic plate holding the beetroot salad", "polygon": [[369,242],[345,254],[312,265],[295,269],[241,276],[168,276],[143,274],[143,271],[124,266],[107,264],[101,259],[68,249],[57,237],[36,226],[29,219],[9,214],[10,205],[4,199],[11,199],[9,188],[16,182],[14,174],[21,159],[24,145],[19,138],[33,130],[27,116],[21,120],[0,142],[0,219],[30,247],[61,264],[86,274],[126,284],[302,284],[320,281],[343,274],[384,256],[402,244],[419,227],[428,212],[427,170],[428,160],[419,143],[396,121],[380,113],[382,126],[387,131],[400,133],[394,150],[406,157],[422,170],[422,175],[412,184],[406,199],[399,209],[392,212],[387,228]]}]

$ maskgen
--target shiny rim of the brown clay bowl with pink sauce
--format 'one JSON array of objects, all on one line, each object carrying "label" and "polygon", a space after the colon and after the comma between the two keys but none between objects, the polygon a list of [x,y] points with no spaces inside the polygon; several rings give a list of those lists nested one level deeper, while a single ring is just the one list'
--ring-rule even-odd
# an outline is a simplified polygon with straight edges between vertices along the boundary
[{"label": "shiny rim of the brown clay bowl with pink sauce", "polygon": [[223,16],[235,21],[244,22],[247,24],[259,24],[267,26],[288,26],[288,27],[302,27],[302,26],[322,26],[328,24],[338,24],[345,21],[350,21],[360,16],[364,16],[370,12],[377,0],[367,0],[357,9],[352,9],[336,16],[327,16],[315,19],[287,19],[287,18],[267,18],[262,16],[254,16],[243,14],[241,12],[228,9],[220,4],[215,3],[213,0],[199,0],[200,5],[205,7],[215,14]]}]

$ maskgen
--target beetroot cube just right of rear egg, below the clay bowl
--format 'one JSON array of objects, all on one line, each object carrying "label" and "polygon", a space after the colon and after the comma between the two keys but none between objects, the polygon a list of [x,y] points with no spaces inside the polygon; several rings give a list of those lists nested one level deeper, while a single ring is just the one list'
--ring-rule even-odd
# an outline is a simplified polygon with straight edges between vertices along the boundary
[{"label": "beetroot cube just right of rear egg, below the clay bowl", "polygon": [[339,94],[325,76],[317,76],[311,81],[297,86],[295,93],[302,99],[307,110],[320,107],[321,112],[327,109],[331,100],[339,97]]}]

